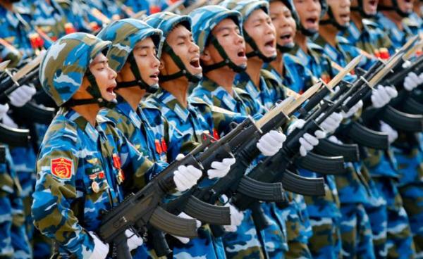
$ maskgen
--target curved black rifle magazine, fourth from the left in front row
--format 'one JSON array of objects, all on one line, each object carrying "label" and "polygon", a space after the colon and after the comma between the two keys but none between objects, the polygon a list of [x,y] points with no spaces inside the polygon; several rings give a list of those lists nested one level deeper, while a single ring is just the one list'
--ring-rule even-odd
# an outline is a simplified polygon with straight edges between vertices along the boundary
[{"label": "curved black rifle magazine, fourth from the left in front row", "polygon": [[302,177],[286,170],[282,175],[281,182],[284,189],[295,194],[302,194],[306,196],[325,195],[324,179],[322,177]]}]

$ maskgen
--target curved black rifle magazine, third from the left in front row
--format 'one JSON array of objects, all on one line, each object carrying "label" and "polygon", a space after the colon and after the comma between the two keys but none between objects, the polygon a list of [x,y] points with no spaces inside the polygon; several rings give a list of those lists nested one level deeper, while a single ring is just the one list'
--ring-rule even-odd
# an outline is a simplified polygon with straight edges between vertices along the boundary
[{"label": "curved black rifle magazine, third from the left in front row", "polygon": [[238,186],[238,192],[255,198],[258,201],[284,201],[285,200],[285,191],[283,191],[282,184],[280,182],[276,183],[265,183],[259,182],[255,179],[244,175]]}]

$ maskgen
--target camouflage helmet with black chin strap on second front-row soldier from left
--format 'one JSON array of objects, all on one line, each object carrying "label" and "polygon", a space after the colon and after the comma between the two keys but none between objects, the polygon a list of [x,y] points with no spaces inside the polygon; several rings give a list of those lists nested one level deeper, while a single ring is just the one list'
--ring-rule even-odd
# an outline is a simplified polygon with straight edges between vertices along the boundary
[{"label": "camouflage helmet with black chin strap on second front-row soldier from left", "polygon": [[141,89],[146,89],[149,93],[157,91],[158,85],[150,86],[142,80],[140,70],[133,56],[133,49],[138,42],[151,37],[157,51],[160,51],[161,34],[161,30],[154,29],[147,25],[145,21],[131,18],[116,20],[99,32],[99,38],[111,41],[111,48],[107,52],[110,67],[119,72],[128,61],[130,70],[135,76],[134,81],[118,82],[117,88],[139,86]]}]

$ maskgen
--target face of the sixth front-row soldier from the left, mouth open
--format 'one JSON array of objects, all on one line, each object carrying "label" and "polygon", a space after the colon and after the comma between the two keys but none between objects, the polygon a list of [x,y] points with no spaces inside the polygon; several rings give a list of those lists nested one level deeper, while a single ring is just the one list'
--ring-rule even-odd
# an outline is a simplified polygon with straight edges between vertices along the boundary
[{"label": "face of the sixth front-row soldier from the left, mouth open", "polygon": [[270,18],[276,28],[276,42],[280,46],[286,46],[294,42],[297,29],[293,15],[281,1],[273,1],[270,4]]}]

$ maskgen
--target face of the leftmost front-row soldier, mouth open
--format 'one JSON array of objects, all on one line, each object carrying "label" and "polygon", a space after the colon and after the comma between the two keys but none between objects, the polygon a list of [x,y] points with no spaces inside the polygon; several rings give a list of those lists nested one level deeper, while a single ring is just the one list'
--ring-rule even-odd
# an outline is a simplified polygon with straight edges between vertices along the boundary
[{"label": "face of the leftmost front-row soldier, mouth open", "polygon": [[106,101],[116,99],[114,89],[116,87],[116,72],[109,67],[106,56],[99,53],[90,63],[90,71],[94,75],[100,93]]}]

